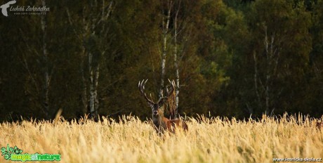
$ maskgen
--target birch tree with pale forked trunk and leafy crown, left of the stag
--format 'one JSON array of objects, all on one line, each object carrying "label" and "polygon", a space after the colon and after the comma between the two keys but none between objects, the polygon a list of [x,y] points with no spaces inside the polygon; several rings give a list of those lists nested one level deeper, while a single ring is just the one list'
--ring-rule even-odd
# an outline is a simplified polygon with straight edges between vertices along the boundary
[{"label": "birch tree with pale forked trunk and leafy crown, left of the stag", "polygon": [[[82,10],[82,16],[77,18],[81,24],[76,24],[69,8],[66,8],[70,25],[81,46],[80,74],[82,113],[88,113],[91,118],[98,120],[98,84],[100,77],[100,63],[107,52],[109,29],[107,21],[112,12],[113,1],[91,1]],[[86,71],[87,69],[87,71]]]}]

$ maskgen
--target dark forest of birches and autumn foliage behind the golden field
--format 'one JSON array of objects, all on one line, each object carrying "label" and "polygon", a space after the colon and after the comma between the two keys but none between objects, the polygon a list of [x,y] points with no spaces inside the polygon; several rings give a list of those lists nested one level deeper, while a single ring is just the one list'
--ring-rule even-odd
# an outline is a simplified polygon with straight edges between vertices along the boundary
[{"label": "dark forest of birches and autumn foliage behind the golden field", "polygon": [[150,117],[176,81],[183,116],[323,114],[322,0],[17,1],[0,15],[0,119]]}]

